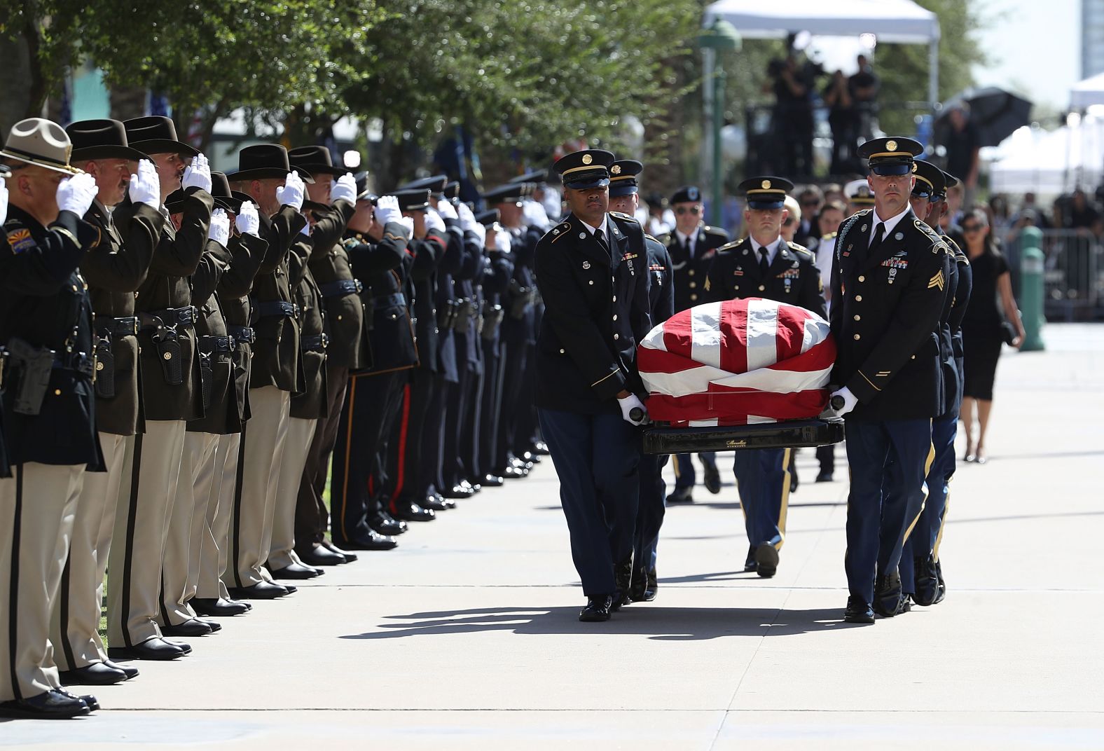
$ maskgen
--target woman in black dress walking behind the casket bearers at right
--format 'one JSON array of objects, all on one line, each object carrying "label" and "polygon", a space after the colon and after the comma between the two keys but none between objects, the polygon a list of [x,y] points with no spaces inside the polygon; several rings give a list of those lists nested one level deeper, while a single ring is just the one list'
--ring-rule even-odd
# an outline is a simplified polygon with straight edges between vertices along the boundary
[{"label": "woman in black dress walking behind the casket bearers at right", "polygon": [[[1012,347],[1023,340],[1023,324],[1012,297],[1008,262],[997,250],[985,211],[974,209],[963,218],[966,255],[974,273],[974,288],[963,317],[963,383],[962,421],[966,433],[966,461],[985,464],[985,433],[992,409],[992,382],[997,376],[997,359],[1004,345],[1001,327],[1008,320],[1016,330]],[[977,441],[974,420],[977,417]]]}]

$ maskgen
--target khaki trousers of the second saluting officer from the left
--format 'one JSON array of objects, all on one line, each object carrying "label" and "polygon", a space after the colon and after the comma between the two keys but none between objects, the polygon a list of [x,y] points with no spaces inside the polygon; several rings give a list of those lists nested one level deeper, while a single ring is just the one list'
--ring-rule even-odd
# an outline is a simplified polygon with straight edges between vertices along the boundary
[{"label": "khaki trousers of the second saluting officer from the left", "polygon": [[132,435],[100,433],[107,472],[89,472],[84,476],[68,560],[62,570],[61,590],[50,623],[54,658],[62,670],[107,659],[99,641],[99,607],[104,601],[104,573],[112,549],[119,485],[124,477],[130,477],[134,442]]}]

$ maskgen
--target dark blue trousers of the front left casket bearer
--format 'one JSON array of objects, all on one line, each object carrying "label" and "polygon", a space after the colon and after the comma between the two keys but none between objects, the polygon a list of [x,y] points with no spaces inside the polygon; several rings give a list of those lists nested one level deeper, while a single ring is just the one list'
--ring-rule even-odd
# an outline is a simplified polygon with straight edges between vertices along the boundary
[{"label": "dark blue trousers of the front left casket bearer", "polygon": [[613,594],[614,565],[633,556],[640,433],[619,413],[538,411],[560,477],[571,557],[587,596]]}]

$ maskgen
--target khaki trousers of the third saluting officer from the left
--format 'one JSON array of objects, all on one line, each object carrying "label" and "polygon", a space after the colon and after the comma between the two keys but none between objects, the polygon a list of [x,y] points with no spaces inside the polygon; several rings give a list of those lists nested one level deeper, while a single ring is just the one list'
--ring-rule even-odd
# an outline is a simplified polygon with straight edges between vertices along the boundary
[{"label": "khaki trousers of the third saluting officer from the left", "polygon": [[107,560],[109,646],[130,647],[161,636],[156,621],[161,610],[161,561],[183,451],[183,420],[149,420],[146,433],[134,442],[134,468],[119,486]]}]

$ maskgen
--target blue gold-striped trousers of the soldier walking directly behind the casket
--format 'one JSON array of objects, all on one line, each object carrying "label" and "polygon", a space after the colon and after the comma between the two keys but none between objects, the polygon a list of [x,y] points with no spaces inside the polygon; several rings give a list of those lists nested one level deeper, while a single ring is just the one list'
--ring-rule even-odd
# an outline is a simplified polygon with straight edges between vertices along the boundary
[{"label": "blue gold-striped trousers of the soldier walking directly behind the casket", "polygon": [[789,449],[750,448],[734,453],[744,528],[752,547],[782,548],[786,535],[786,504],[789,499]]}]

